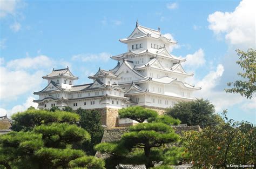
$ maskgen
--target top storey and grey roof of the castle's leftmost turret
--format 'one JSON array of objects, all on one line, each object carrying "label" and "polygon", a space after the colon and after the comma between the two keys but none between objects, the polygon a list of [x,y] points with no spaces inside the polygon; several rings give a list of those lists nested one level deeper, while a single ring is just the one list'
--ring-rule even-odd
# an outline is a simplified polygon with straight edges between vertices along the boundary
[{"label": "top storey and grey roof of the castle's leftmost turret", "polygon": [[57,85],[62,86],[64,89],[70,88],[73,85],[73,80],[77,80],[78,77],[74,76],[69,70],[69,66],[65,69],[53,68],[52,72],[49,75],[43,76],[43,79],[48,80],[48,84],[53,81]]}]

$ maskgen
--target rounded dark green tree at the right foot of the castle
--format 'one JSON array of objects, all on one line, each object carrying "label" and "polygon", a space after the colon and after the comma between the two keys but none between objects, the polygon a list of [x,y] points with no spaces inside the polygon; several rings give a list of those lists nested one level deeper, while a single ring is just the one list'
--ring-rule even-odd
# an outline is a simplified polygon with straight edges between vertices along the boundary
[{"label": "rounded dark green tree at the right foot of the castle", "polygon": [[214,105],[209,100],[197,99],[192,102],[179,102],[167,109],[165,113],[179,119],[181,124],[199,125],[201,128],[205,128],[215,125],[220,119],[220,116],[214,112]]}]

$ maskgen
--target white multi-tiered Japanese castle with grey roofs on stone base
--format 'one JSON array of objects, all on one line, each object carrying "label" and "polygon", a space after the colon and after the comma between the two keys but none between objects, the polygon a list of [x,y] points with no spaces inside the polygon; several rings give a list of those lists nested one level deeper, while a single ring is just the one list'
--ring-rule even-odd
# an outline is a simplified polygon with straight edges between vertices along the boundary
[{"label": "white multi-tiered Japanese castle with grey roofs on stone base", "polygon": [[106,127],[126,126],[131,119],[118,119],[118,110],[129,106],[143,106],[159,113],[180,101],[191,101],[193,91],[200,90],[185,82],[193,74],[181,66],[185,59],[169,53],[177,42],[161,35],[160,29],[146,28],[136,23],[131,35],[120,42],[127,44],[127,52],[112,56],[117,65],[112,70],[98,70],[90,84],[74,85],[78,77],[69,67],[53,69],[43,76],[48,85],[34,92],[39,99],[38,109],[65,106],[73,110],[97,109]]}]

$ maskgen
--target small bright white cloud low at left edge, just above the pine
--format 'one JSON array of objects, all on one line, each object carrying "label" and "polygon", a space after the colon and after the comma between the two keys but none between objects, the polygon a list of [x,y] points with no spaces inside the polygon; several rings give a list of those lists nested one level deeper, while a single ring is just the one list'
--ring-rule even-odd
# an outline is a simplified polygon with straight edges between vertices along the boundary
[{"label": "small bright white cloud low at left edge, just above the pine", "polygon": [[8,117],[11,117],[12,114],[17,112],[22,112],[28,109],[30,106],[37,108],[37,103],[33,103],[33,100],[35,100],[34,97],[30,96],[26,99],[26,102],[22,105],[16,105],[12,107],[11,110],[5,110],[3,108],[0,108],[0,116],[4,116],[7,114]]}]

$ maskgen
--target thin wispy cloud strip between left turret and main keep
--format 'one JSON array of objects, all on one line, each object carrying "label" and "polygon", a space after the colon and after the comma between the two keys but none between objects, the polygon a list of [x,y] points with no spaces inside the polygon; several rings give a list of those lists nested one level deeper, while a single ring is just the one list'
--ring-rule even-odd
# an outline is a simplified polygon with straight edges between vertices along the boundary
[{"label": "thin wispy cloud strip between left turret and main keep", "polygon": [[85,53],[72,56],[72,60],[81,60],[82,62],[92,62],[95,60],[101,60],[103,62],[107,62],[107,60],[110,59],[110,56],[111,54],[106,52],[97,54]]}]

